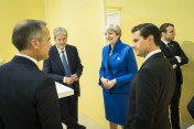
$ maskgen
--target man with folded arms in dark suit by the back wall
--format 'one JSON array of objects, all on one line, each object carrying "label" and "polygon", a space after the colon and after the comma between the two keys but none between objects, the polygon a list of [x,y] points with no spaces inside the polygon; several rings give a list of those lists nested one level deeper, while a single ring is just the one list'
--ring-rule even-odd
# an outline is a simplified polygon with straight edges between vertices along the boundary
[{"label": "man with folded arms in dark suit by the back wall", "polygon": [[171,63],[174,68],[174,73],[176,75],[176,86],[174,90],[174,95],[171,100],[171,122],[172,129],[180,129],[180,98],[181,98],[181,85],[183,83],[183,76],[181,66],[188,62],[188,58],[184,54],[180,44],[174,40],[175,30],[172,23],[164,23],[160,26],[161,32],[161,44],[160,49],[163,52],[164,56]]}]

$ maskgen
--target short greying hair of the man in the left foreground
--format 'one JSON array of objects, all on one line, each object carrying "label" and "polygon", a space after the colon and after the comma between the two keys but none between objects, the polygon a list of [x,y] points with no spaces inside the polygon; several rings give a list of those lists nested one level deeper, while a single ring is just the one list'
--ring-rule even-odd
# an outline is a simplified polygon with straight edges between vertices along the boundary
[{"label": "short greying hair of the man in the left foreground", "polygon": [[24,20],[18,23],[12,33],[13,45],[22,51],[29,49],[33,39],[41,42],[44,35],[42,25],[46,25],[46,23],[41,20]]}]

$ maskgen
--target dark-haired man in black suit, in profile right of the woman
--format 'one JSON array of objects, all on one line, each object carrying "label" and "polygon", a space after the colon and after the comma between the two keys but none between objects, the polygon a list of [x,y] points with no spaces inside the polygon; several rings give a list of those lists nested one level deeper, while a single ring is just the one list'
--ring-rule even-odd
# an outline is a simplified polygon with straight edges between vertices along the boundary
[{"label": "dark-haired man in black suit, in profile right of the woman", "polygon": [[159,49],[160,31],[151,23],[132,29],[133,45],[144,62],[131,80],[125,129],[171,129],[169,105],[175,75]]}]

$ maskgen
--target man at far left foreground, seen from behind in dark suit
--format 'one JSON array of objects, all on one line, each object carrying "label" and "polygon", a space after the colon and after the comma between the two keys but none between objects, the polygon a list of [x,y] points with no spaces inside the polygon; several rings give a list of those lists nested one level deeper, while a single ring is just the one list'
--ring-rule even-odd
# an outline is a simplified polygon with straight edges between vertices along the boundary
[{"label": "man at far left foreground, seen from behind in dark suit", "polygon": [[37,67],[51,47],[46,23],[15,25],[13,60],[0,67],[0,129],[62,129],[55,82]]}]

